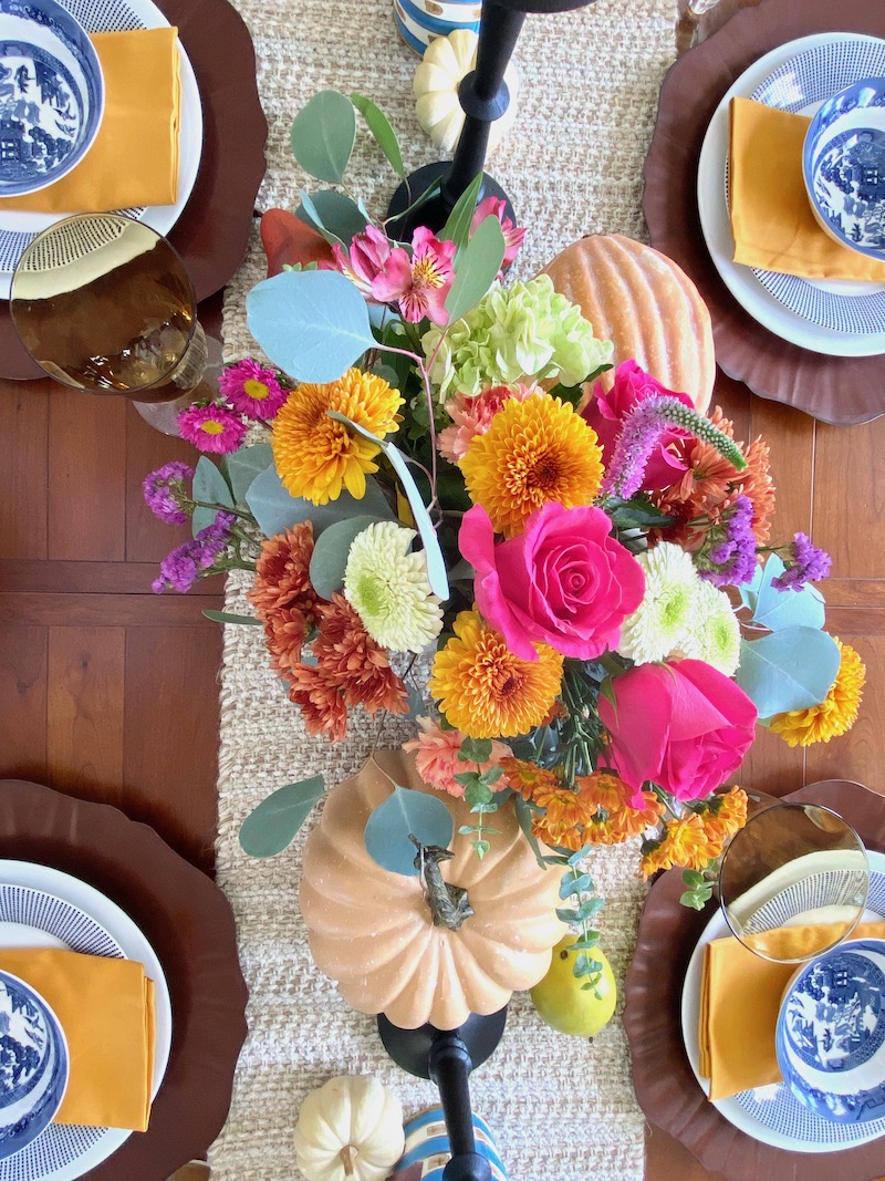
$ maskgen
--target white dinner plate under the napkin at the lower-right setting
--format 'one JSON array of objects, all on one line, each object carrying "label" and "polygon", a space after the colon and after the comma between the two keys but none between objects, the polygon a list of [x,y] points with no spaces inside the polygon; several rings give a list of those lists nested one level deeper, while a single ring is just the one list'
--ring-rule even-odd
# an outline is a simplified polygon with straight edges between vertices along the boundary
[{"label": "white dinner plate under the napkin at the lower-right setting", "polygon": [[[870,900],[864,919],[880,921],[885,918],[885,855],[868,853],[867,856],[871,870]],[[682,1040],[691,1070],[704,1095],[709,1079],[701,1075],[701,1052],[697,1042],[703,948],[713,939],[729,934],[725,916],[721,909],[717,909],[697,940],[682,987]],[[741,1091],[739,1095],[716,1100],[713,1105],[729,1123],[753,1140],[792,1153],[833,1153],[866,1144],[885,1135],[885,1118],[860,1124],[831,1123],[804,1107],[784,1083]]]}]

